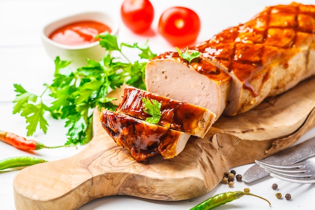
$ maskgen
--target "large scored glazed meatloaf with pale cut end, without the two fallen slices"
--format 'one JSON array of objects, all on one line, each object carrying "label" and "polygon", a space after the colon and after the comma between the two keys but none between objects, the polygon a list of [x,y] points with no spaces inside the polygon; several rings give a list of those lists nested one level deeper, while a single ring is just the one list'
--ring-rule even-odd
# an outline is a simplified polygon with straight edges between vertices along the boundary
[{"label": "large scored glazed meatloaf with pale cut end, without the two fallen slices", "polygon": [[315,74],[315,6],[267,7],[245,24],[148,62],[147,91],[205,107],[217,117],[246,112]]}]

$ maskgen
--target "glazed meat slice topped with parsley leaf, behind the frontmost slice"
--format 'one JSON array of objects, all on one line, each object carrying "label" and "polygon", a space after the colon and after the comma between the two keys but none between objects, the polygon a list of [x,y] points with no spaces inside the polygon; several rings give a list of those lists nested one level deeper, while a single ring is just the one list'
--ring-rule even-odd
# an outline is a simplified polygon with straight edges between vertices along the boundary
[{"label": "glazed meat slice topped with parsley leaf, behind the frontmost slice", "polygon": [[145,120],[151,115],[144,112],[142,98],[156,100],[161,103],[161,118],[157,124],[203,137],[214,123],[216,115],[200,106],[176,101],[131,86],[126,86],[122,102],[116,111]]}]

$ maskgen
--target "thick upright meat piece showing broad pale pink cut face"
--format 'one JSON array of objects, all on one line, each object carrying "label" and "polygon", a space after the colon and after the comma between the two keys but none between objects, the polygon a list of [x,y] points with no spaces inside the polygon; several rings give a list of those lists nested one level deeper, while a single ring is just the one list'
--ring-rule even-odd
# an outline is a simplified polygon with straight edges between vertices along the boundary
[{"label": "thick upright meat piece showing broad pale pink cut face", "polygon": [[146,65],[145,85],[149,92],[204,107],[216,115],[227,104],[231,77],[211,60],[188,63],[178,52],[161,54]]}]

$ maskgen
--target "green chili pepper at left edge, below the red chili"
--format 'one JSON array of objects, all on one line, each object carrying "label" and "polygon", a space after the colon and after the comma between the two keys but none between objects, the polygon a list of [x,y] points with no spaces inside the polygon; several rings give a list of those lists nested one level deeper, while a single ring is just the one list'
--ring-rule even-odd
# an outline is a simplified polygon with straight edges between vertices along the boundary
[{"label": "green chili pepper at left edge, below the red chili", "polygon": [[46,160],[40,158],[34,158],[29,156],[18,156],[0,160],[0,170],[8,168],[16,168],[23,166],[32,166],[38,163],[47,162]]}]

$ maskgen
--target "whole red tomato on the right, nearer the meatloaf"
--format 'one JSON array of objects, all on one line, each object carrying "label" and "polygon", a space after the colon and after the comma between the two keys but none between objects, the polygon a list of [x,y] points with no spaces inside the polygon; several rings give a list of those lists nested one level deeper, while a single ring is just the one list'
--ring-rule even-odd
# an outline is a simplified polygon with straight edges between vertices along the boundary
[{"label": "whole red tomato on the right, nearer the meatloaf", "polygon": [[159,20],[161,35],[174,46],[192,44],[200,32],[197,13],[185,7],[172,7],[163,12]]}]

